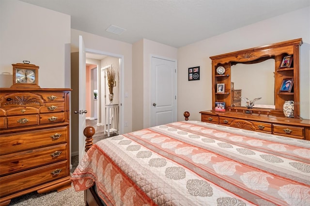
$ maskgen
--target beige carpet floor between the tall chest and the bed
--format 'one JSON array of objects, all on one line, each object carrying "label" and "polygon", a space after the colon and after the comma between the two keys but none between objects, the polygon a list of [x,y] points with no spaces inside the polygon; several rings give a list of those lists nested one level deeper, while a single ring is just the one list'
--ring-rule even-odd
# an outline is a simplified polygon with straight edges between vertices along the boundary
[{"label": "beige carpet floor between the tall chest and the bed", "polygon": [[[71,173],[78,166],[78,156],[71,157]],[[85,206],[84,192],[76,192],[73,186],[69,189],[57,192],[50,191],[39,194],[31,192],[11,200],[9,206]]]}]

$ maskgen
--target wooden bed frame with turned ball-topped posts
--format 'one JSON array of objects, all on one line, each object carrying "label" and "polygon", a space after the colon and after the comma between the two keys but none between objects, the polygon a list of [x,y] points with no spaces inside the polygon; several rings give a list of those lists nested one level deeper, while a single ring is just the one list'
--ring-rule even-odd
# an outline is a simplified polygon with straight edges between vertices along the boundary
[{"label": "wooden bed frame with turned ball-topped posts", "polygon": [[[184,112],[185,120],[188,120],[189,112]],[[85,152],[87,152],[93,146],[93,135],[95,134],[95,129],[92,126],[86,127],[84,129],[84,135],[86,136]],[[100,197],[95,192],[95,186],[84,191],[84,202],[85,206],[106,206],[100,201]]]}]

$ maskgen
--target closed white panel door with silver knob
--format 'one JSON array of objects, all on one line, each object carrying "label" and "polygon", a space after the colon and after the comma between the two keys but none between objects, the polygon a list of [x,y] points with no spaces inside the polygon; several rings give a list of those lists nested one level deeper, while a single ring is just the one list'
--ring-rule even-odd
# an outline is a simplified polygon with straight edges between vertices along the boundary
[{"label": "closed white panel door with silver knob", "polygon": [[152,127],[177,120],[176,61],[152,57]]}]

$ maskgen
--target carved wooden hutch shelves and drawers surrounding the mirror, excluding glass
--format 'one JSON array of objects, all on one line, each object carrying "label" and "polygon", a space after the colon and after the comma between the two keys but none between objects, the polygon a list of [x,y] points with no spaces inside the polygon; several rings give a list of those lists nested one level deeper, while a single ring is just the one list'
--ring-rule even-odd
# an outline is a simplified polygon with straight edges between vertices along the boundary
[{"label": "carved wooden hutch shelves and drawers surrounding the mirror, excluding glass", "polygon": [[[302,39],[235,51],[210,57],[212,59],[212,110],[202,111],[202,121],[229,125],[252,131],[279,134],[310,140],[310,120],[300,118],[299,107],[299,49]],[[284,57],[290,56],[289,68],[280,66]],[[275,59],[274,109],[248,109],[234,104],[232,86],[232,65],[255,64],[267,59]],[[218,67],[224,67],[224,74],[217,74]],[[255,78],[255,77],[249,77]],[[294,79],[292,92],[280,91],[285,79]],[[225,84],[225,92],[217,93],[217,84]],[[241,88],[239,89],[241,90]],[[294,117],[283,114],[283,104],[294,101]],[[216,103],[223,102],[226,111],[216,111]]]}]

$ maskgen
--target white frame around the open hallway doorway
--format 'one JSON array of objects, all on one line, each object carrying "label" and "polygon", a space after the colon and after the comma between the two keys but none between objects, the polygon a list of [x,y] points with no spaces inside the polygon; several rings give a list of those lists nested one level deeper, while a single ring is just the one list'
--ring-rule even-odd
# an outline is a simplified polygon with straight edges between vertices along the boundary
[{"label": "white frame around the open hallway doorway", "polygon": [[[106,55],[106,56],[109,56],[109,57],[120,59],[120,69],[119,69],[119,78],[120,78],[120,91],[119,91],[119,120],[120,121],[119,121],[119,132],[120,132],[120,134],[123,134],[124,133],[124,55],[113,54],[113,53],[110,53],[110,52],[99,51],[99,50],[90,49],[90,48],[86,48],[86,47],[85,47],[85,53]],[[101,72],[101,68],[98,68],[97,72],[98,73]],[[104,109],[104,107],[101,107],[101,110],[103,110],[103,109]],[[102,121],[102,118],[103,117],[101,117],[101,121]]]}]

